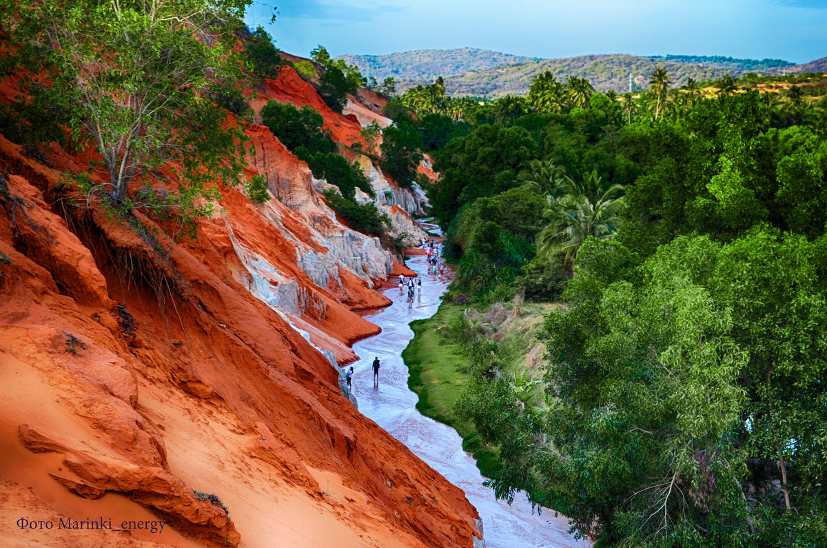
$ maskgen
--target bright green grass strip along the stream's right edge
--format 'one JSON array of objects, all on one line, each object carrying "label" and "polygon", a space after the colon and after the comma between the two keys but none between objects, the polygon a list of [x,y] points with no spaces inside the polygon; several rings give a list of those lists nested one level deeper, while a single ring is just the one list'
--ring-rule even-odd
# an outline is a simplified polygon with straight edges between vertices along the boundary
[{"label": "bright green grass strip along the stream's right edge", "polygon": [[462,315],[465,307],[442,303],[428,320],[411,322],[414,339],[402,352],[408,365],[408,387],[417,393],[417,409],[424,416],[452,426],[462,438],[462,449],[474,455],[483,475],[499,466],[496,452],[480,443],[474,426],[460,421],[453,413],[468,380],[462,368],[466,357],[460,345],[448,334],[448,325]]}]

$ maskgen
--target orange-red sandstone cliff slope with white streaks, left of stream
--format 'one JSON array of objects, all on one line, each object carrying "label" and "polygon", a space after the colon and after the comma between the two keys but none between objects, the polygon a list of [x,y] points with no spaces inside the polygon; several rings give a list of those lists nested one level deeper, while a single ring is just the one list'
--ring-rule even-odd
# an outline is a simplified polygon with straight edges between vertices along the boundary
[{"label": "orange-red sandstone cliff slope with white streaks, left of stream", "polygon": [[[307,99],[337,140],[358,138],[356,114],[325,111],[283,74],[263,97]],[[249,169],[280,200],[254,205],[224,188],[221,214],[201,219],[193,241],[163,240],[169,253],[67,201],[60,171],[82,159],[55,151],[52,168],[0,137],[0,191],[14,210],[0,223],[0,544],[479,536],[463,493],[361,416],[313,347],[353,357],[347,344],[377,328],[351,310],[387,304],[371,287],[394,264],[337,222],[269,130],[247,134]],[[69,518],[131,531],[59,529]],[[136,528],[160,521],[160,532]]]}]

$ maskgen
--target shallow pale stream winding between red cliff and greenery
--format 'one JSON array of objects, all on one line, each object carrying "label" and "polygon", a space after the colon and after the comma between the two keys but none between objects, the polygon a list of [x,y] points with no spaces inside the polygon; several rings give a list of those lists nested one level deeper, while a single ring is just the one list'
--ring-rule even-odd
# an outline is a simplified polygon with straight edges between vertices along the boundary
[{"label": "shallow pale stream winding between red cliff and greenery", "polygon": [[[485,478],[476,468],[474,459],[462,450],[457,430],[416,410],[418,396],[408,388],[408,368],[401,357],[402,350],[414,338],[408,324],[436,313],[439,297],[450,280],[429,275],[424,256],[411,257],[407,266],[423,281],[421,295],[414,300],[413,308],[408,308],[407,290],[405,295],[399,295],[399,289],[395,287],[386,290],[385,296],[394,304],[369,318],[382,328],[382,332],[353,345],[359,356],[359,361],[352,364],[355,373],[353,391],[359,401],[359,411],[465,491],[468,500],[480,512],[487,548],[590,546],[586,541],[576,541],[568,533],[565,517],[556,517],[555,512],[547,509],[541,514],[532,512],[524,493],[517,493],[511,506],[496,500],[494,491],[483,487]],[[371,363],[375,357],[381,362],[379,387],[374,387],[373,383]]]}]

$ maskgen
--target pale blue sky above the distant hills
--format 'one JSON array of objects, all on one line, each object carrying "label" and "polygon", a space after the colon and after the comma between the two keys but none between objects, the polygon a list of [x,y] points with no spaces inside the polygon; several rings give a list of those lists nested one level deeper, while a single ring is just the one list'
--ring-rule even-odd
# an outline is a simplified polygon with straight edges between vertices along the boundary
[{"label": "pale blue sky above the distant hills", "polygon": [[247,13],[303,56],[317,44],[331,55],[470,46],[547,58],[827,56],[827,0],[254,0]]}]

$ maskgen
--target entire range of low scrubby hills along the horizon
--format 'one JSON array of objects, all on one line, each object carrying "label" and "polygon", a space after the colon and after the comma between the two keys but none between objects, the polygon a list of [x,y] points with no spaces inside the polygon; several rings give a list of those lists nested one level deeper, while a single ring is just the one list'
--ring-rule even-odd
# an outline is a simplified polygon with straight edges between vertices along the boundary
[{"label": "entire range of low scrubby hills along the horizon", "polygon": [[[430,84],[437,76],[445,78],[448,94],[470,95],[496,99],[506,94],[527,94],[534,76],[551,70],[557,79],[582,76],[598,91],[629,90],[648,87],[649,75],[663,66],[672,76],[672,86],[686,80],[711,81],[726,74],[734,77],[756,72],[777,75],[790,72],[825,70],[827,59],[808,65],[794,65],[780,59],[734,59],[720,55],[580,55],[565,59],[542,59],[508,55],[490,50],[461,48],[458,50],[414,50],[389,55],[340,55],[348,64],[359,67],[366,77],[381,81],[387,76],[396,79],[399,92],[418,84]],[[820,63],[822,68],[802,68]],[[815,66],[815,65],[814,65]]]}]

